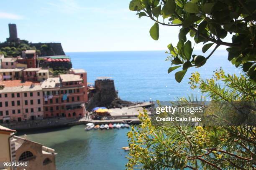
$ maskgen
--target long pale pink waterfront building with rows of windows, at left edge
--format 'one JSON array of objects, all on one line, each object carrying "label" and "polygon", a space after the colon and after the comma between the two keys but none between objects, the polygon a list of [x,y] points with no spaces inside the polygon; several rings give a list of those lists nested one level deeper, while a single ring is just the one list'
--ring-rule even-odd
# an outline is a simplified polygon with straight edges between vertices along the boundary
[{"label": "long pale pink waterfront building with rows of windows, at left edge", "polygon": [[0,123],[43,118],[40,83],[10,80],[1,82],[0,87]]}]

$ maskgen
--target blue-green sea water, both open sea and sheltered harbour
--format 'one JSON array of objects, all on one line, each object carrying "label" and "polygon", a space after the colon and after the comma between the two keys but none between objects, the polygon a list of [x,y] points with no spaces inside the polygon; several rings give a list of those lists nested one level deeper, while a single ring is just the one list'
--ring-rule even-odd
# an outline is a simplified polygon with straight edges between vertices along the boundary
[{"label": "blue-green sea water, both open sea and sheltered harbour", "polygon": [[[193,54],[204,55],[201,51]],[[174,72],[167,73],[171,66],[166,61],[165,51],[129,52],[66,52],[73,68],[87,71],[87,82],[92,84],[97,77],[111,77],[122,100],[133,102],[177,100],[190,95],[201,96],[198,89],[191,90],[189,77],[198,71],[202,78],[212,77],[213,71],[223,68],[226,73],[239,75],[241,69],[228,61],[225,50],[216,51],[203,67],[191,68],[182,82],[176,82]],[[84,125],[44,130],[20,131],[18,135],[55,149],[58,170],[124,170],[128,146],[125,129],[84,131]]]}]

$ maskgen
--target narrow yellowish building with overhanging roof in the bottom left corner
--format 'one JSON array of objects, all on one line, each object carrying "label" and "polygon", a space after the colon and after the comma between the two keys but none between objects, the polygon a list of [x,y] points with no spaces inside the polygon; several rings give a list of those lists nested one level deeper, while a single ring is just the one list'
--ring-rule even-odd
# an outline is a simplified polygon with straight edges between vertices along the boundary
[{"label": "narrow yellowish building with overhanging roof in the bottom left corner", "polygon": [[[0,125],[0,162],[13,162],[15,159],[15,144],[13,135],[16,131]],[[12,154],[14,153],[14,154]],[[1,167],[2,170],[11,170],[10,167]]]}]

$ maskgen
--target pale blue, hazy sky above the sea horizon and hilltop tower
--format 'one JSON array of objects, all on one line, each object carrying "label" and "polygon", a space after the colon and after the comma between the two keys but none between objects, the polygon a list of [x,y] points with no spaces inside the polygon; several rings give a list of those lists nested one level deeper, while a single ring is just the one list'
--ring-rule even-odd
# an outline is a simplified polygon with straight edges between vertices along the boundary
[{"label": "pale blue, hazy sky above the sea horizon and hilltop tower", "polygon": [[21,40],[61,42],[65,52],[167,50],[171,42],[177,44],[180,27],[160,25],[159,40],[153,40],[149,29],[154,22],[139,19],[129,2],[1,0],[0,42],[9,37],[8,23],[15,23]]}]

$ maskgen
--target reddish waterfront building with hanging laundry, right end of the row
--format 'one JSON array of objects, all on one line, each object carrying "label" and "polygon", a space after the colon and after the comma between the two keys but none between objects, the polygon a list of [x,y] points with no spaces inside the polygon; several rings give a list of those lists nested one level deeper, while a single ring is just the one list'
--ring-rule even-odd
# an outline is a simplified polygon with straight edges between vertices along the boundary
[{"label": "reddish waterfront building with hanging laundry, right end of the row", "polygon": [[44,91],[44,117],[83,117],[87,102],[87,80],[84,70],[59,75],[41,83]]}]

